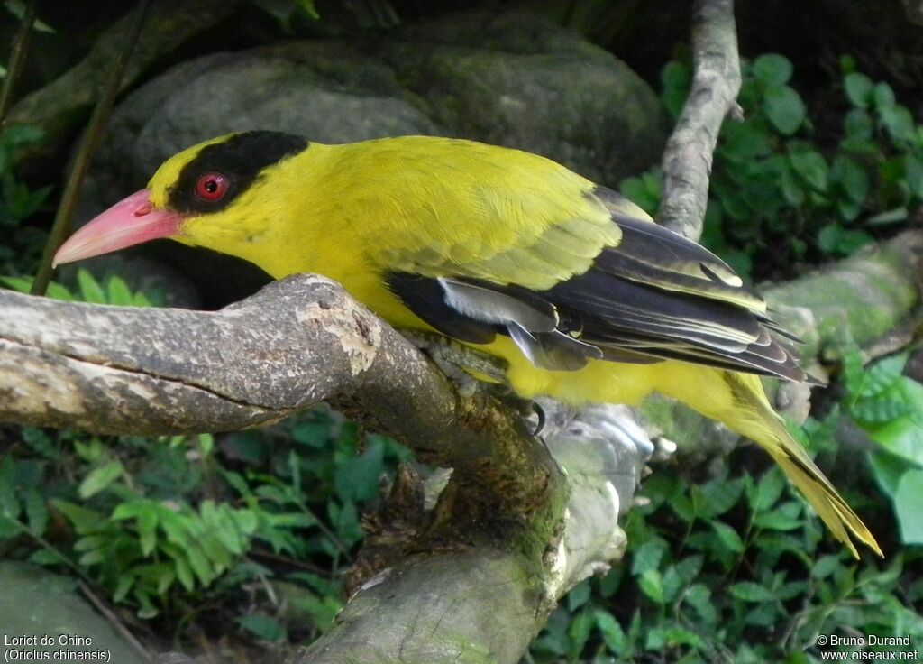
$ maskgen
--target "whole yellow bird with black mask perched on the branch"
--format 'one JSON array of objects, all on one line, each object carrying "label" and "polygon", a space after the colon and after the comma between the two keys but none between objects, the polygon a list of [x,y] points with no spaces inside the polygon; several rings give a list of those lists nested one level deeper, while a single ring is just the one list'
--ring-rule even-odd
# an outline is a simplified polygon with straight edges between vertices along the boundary
[{"label": "whole yellow bird with black mask perched on the branch", "polygon": [[850,534],[881,555],[766,399],[760,375],[807,376],[761,296],[708,250],[558,163],[459,139],[229,134],[163,163],[55,261],[157,237],[277,279],[324,274],[395,327],[502,357],[522,397],[674,397],[758,442],[853,555]]}]

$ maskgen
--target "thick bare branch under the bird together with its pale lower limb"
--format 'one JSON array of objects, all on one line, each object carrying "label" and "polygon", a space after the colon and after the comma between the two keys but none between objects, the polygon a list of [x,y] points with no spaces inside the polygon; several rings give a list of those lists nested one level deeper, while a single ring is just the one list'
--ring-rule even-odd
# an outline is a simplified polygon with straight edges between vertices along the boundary
[{"label": "thick bare branch under the bird together with its pale lower limb", "polygon": [[0,421],[166,434],[254,426],[321,400],[453,472],[295,661],[514,664],[557,598],[621,551],[617,516],[651,447],[625,413],[575,420],[549,402],[537,441],[496,398],[456,393],[338,284],[290,277],[217,313],[0,291]]}]

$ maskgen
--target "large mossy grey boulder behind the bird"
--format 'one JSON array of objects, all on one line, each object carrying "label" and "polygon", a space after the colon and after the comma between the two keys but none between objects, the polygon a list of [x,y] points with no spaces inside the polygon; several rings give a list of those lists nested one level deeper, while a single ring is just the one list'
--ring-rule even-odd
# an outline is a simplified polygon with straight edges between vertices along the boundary
[{"label": "large mossy grey boulder behind the bird", "polygon": [[[472,13],[376,41],[287,42],[174,66],[114,112],[78,219],[144,187],[175,152],[257,128],[320,142],[477,139],[544,154],[610,186],[656,162],[665,140],[656,95],[612,54],[540,18]],[[239,261],[168,245],[139,253],[189,273],[205,295],[179,295],[183,280],[171,278],[163,289],[171,303],[220,307],[267,281]],[[137,253],[95,269],[138,270],[148,276],[131,281],[150,288],[153,272],[134,265]]]}]

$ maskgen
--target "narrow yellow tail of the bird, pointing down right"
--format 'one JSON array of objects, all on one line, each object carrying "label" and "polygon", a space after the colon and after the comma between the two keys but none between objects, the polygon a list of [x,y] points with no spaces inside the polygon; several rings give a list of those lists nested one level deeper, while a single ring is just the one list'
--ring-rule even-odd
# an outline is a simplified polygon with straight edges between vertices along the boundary
[{"label": "narrow yellow tail of the bird, pointing down right", "polygon": [[760,380],[756,376],[731,371],[724,374],[737,411],[734,417],[722,417],[725,424],[759,443],[773,457],[785,475],[801,489],[823,523],[830,528],[833,537],[843,542],[853,556],[858,558],[859,554],[850,534],[883,557],[869,528],[785,429],[785,422],[766,400]]}]

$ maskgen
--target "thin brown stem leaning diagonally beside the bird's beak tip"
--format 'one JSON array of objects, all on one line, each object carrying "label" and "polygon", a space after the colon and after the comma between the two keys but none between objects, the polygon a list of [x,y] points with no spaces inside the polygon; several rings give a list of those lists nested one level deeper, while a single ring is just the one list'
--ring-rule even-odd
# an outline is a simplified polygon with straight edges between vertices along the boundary
[{"label": "thin brown stem leaning diagonally beside the bird's beak tip", "polygon": [[32,282],[31,293],[34,296],[43,296],[48,288],[48,283],[51,281],[54,252],[57,251],[70,232],[71,220],[74,217],[74,211],[77,209],[80,185],[83,184],[83,179],[87,175],[87,169],[90,166],[90,156],[96,151],[96,146],[102,138],[102,130],[112,112],[115,96],[119,90],[119,82],[122,80],[122,73],[125,70],[128,58],[131,57],[135,44],[138,42],[138,36],[141,34],[141,26],[144,24],[144,17],[148,13],[149,5],[150,0],[140,0],[138,3],[135,18],[126,35],[125,48],[115,58],[109,77],[106,80],[105,88],[102,91],[102,97],[99,103],[96,104],[96,108],[93,109],[93,115],[90,116],[87,133],[80,143],[77,159],[74,160],[74,165],[67,175],[67,183],[64,193],[61,195],[61,204],[54,215],[51,234],[48,236],[48,242],[45,243],[44,252],[42,253],[42,264],[39,267],[38,274],[35,275],[35,281]]}]

